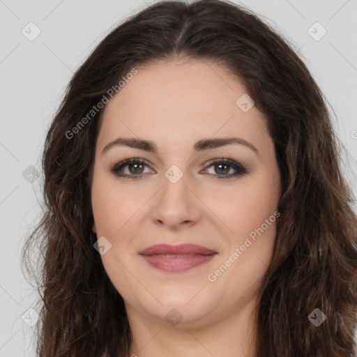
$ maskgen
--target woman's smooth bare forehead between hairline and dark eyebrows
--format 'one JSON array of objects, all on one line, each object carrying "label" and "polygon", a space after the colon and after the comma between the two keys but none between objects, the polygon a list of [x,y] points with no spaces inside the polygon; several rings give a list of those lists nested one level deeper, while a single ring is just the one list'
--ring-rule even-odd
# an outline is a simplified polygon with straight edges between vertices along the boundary
[{"label": "woman's smooth bare forehead between hairline and dark eyebrows", "polygon": [[247,90],[227,68],[206,61],[171,61],[136,69],[105,106],[98,142],[119,133],[155,141],[232,132],[251,140],[267,135],[261,112],[254,106],[243,112],[236,104]]}]

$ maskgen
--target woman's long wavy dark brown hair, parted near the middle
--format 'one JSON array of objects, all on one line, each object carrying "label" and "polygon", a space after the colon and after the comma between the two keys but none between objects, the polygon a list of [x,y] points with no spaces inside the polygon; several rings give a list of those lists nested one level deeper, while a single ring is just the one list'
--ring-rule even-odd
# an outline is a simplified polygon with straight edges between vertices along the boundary
[{"label": "woman's long wavy dark brown hair, parted near the middle", "polygon": [[[257,310],[257,355],[355,356],[357,218],[326,100],[286,40],[254,13],[220,0],[162,1],[132,15],[70,81],[45,140],[46,209],[22,252],[27,268],[40,242],[38,356],[128,357],[123,298],[91,236],[102,109],[91,110],[133,68],[174,59],[218,63],[243,81],[275,144],[283,194]],[[308,318],[317,308],[326,315],[320,326]]]}]

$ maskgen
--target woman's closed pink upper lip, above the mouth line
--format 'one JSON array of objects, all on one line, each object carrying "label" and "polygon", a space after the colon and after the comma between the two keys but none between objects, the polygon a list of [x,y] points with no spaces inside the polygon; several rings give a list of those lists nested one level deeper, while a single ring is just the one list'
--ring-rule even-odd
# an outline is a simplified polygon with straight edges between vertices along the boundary
[{"label": "woman's closed pink upper lip, above the mouth line", "polygon": [[195,244],[180,244],[180,245],[169,245],[169,244],[155,244],[139,252],[140,255],[175,255],[175,254],[200,254],[200,255],[211,255],[215,254],[214,250],[202,247],[201,245]]}]

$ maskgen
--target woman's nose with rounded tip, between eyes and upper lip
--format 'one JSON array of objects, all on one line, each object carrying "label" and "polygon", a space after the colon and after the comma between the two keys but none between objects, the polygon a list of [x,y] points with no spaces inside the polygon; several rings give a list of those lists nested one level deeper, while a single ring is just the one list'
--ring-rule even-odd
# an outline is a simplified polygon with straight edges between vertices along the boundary
[{"label": "woman's nose with rounded tip, between eyes and upper lip", "polygon": [[[162,177],[162,188],[156,197],[153,220],[156,225],[179,230],[197,224],[202,215],[202,202],[195,186],[188,185],[185,174],[174,183]],[[197,190],[196,190],[197,191]]]}]

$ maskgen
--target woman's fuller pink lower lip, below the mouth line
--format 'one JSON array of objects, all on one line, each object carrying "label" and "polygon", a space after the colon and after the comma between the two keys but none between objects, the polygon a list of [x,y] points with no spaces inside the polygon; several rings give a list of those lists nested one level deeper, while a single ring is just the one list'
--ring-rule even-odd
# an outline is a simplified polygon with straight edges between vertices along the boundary
[{"label": "woman's fuller pink lower lip, below the mouth line", "polygon": [[210,261],[215,254],[211,255],[192,255],[188,257],[172,257],[167,258],[162,255],[142,255],[142,257],[155,268],[171,273],[179,273],[188,271],[196,266],[202,265]]}]

